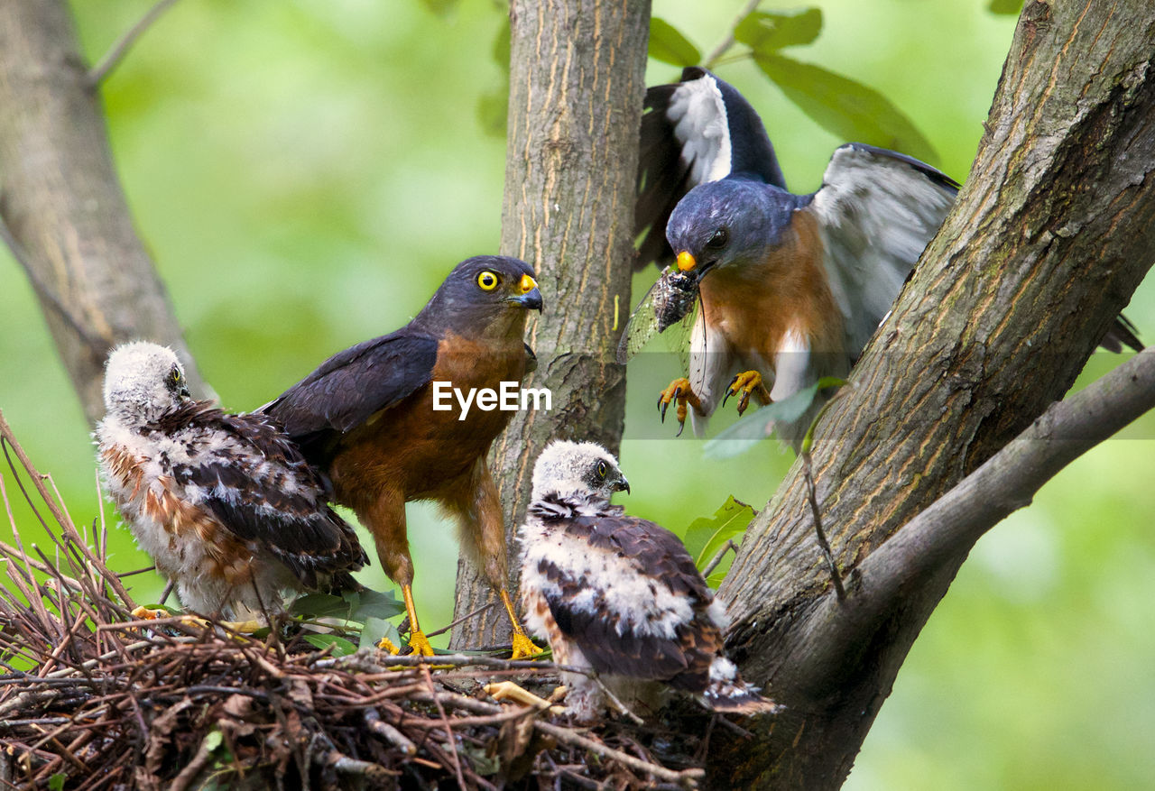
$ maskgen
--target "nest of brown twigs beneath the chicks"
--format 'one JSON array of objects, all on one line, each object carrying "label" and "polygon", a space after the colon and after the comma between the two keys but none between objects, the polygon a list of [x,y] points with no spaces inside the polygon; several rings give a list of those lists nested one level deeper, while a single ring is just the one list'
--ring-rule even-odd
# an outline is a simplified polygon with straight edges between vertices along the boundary
[{"label": "nest of brown twigs beneath the chicks", "polygon": [[[0,446],[14,536],[0,543],[5,788],[627,789],[703,776],[708,737],[686,734],[685,721],[574,727],[483,689],[512,678],[549,694],[547,662],[455,655],[431,667],[375,650],[334,656],[291,622],[255,639],[136,620],[125,575],[105,564],[104,525],[77,530],[2,415]],[[25,550],[7,507],[15,488],[54,540],[49,553]]]}]

